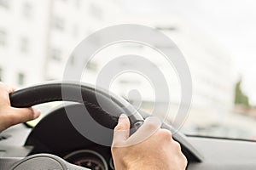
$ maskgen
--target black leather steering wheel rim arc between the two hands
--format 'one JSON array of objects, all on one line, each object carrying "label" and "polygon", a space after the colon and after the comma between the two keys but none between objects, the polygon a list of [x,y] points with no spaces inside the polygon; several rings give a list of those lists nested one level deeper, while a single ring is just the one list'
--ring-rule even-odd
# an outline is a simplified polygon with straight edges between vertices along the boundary
[{"label": "black leather steering wheel rim arc between the two hands", "polygon": [[[70,95],[63,95],[65,94]],[[82,96],[82,98],[81,98]],[[125,113],[131,122],[131,129],[139,127],[144,119],[143,116],[125,99],[110,93],[102,88],[95,88],[87,83],[80,82],[53,82],[38,84],[29,88],[22,88],[9,95],[11,106],[17,108],[32,107],[33,105],[44,104],[53,101],[71,101],[78,102],[83,105],[94,105],[101,108],[97,99],[101,99],[108,106],[108,111],[102,113],[108,114],[109,118],[114,122],[118,122],[118,118]],[[82,100],[81,100],[82,99]],[[90,112],[89,112],[90,113]],[[101,117],[93,115],[97,122],[101,123]],[[135,130],[136,130],[135,129]],[[134,131],[134,130],[133,130]]]}]

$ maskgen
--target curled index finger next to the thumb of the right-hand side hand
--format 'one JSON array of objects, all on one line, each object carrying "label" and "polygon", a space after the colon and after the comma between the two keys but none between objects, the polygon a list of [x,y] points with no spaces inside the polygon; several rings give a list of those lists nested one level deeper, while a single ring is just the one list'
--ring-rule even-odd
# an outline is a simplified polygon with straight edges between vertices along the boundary
[{"label": "curled index finger next to the thumb of the right-hand side hand", "polygon": [[127,145],[138,144],[146,139],[150,138],[156,133],[161,127],[160,119],[156,116],[149,116],[143,122],[143,125],[137,129],[136,133],[133,133],[127,140]]}]

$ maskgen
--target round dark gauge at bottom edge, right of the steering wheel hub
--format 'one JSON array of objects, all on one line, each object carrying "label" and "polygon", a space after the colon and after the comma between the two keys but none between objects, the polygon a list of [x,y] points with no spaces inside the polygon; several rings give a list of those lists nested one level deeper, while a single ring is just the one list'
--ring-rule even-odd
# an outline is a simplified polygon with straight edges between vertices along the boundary
[{"label": "round dark gauge at bottom edge, right of the steering wheel hub", "polygon": [[91,170],[108,170],[107,161],[94,150],[76,150],[64,157],[70,163]]}]

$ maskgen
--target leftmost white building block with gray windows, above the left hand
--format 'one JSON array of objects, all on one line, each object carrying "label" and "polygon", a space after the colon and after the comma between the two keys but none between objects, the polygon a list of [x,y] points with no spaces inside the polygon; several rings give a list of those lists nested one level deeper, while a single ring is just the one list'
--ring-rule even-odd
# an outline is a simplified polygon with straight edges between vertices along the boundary
[{"label": "leftmost white building block with gray windows, above the left hand", "polygon": [[47,8],[46,1],[0,1],[0,77],[4,82],[24,86],[43,80]]}]

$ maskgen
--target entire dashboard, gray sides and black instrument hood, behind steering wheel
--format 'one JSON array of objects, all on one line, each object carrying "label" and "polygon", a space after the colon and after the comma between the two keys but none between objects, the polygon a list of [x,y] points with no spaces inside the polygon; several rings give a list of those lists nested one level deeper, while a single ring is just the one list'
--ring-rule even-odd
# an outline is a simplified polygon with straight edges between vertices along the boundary
[{"label": "entire dashboard, gray sides and black instrument hood, behind steering wheel", "polygon": [[[79,105],[70,105],[70,107],[73,108],[73,114],[80,113]],[[51,111],[33,129],[18,125],[1,135],[5,139],[0,140],[0,169],[1,162],[6,162],[5,158],[26,157],[40,153],[53,154],[92,170],[114,169],[110,147],[84,138],[69,122],[67,114],[61,107]],[[188,158],[188,170],[253,170],[256,167],[255,142],[198,137],[178,139],[175,136],[175,138],[182,145],[183,153]],[[198,149],[201,160],[195,159],[196,156],[191,154],[196,154],[193,148],[184,147],[189,145],[186,142]]]}]

